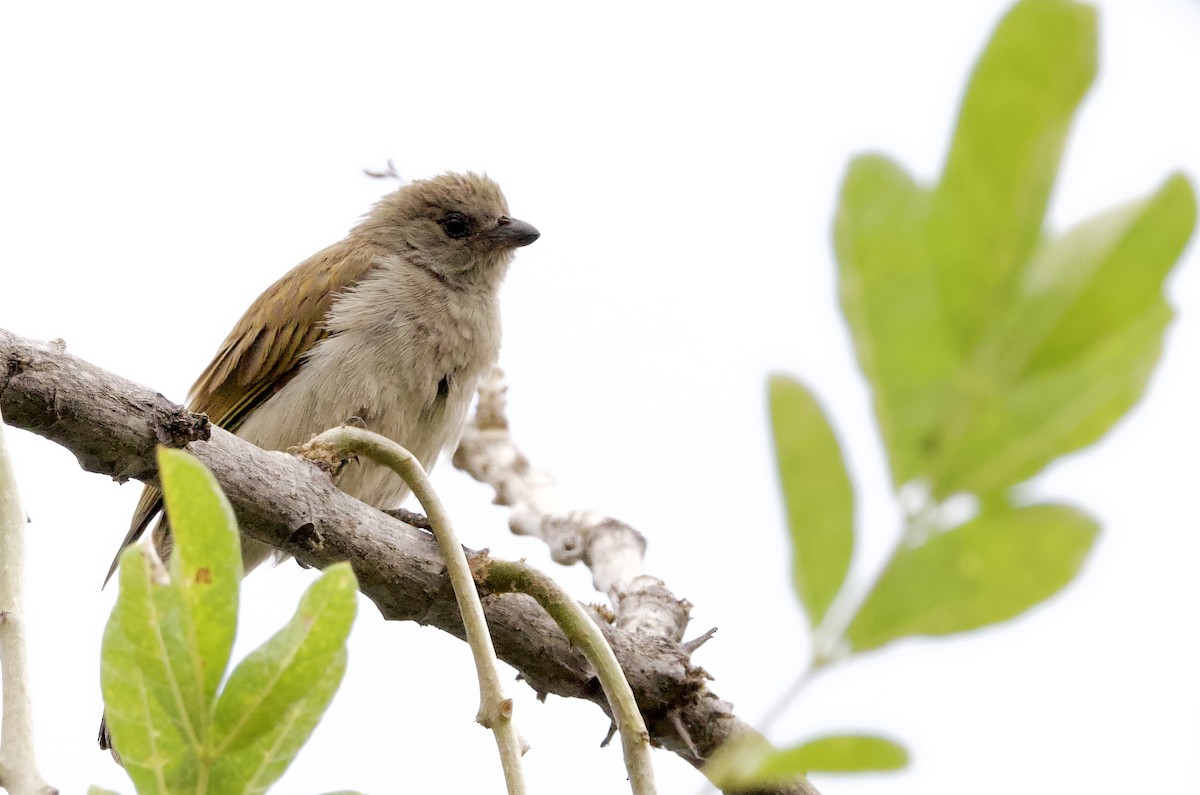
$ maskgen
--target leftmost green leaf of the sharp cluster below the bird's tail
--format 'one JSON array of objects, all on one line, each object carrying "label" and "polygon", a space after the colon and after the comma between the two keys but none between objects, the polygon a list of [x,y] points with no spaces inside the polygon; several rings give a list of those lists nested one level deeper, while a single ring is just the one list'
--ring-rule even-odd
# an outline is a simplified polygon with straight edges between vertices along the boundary
[{"label": "leftmost green leaf of the sharp cluster below the bird's tail", "polygon": [[[104,628],[101,689],[109,733],[138,793],[173,793],[196,777],[194,736],[187,735],[187,709],[194,693],[170,665],[178,635],[166,572],[144,546],[121,555],[120,594]],[[173,615],[174,614],[174,615]],[[174,629],[174,632],[173,632]]]}]

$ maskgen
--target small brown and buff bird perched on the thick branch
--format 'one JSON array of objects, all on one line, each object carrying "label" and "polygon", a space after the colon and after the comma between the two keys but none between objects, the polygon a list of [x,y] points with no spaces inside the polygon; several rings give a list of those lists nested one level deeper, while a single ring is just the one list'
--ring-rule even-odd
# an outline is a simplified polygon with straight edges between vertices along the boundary
[{"label": "small brown and buff bird perched on the thick branch", "polygon": [[[457,444],[499,357],[499,288],[514,255],[539,237],[509,215],[486,175],[448,172],[403,185],[251,304],[191,388],[188,408],[269,450],[358,418],[431,470]],[[397,474],[368,461],[342,470],[337,486],[380,509],[408,495]],[[162,504],[146,485],[121,550]],[[166,560],[164,518],[152,539]],[[276,555],[245,536],[241,549],[247,574]],[[106,584],[119,560],[120,551]],[[103,723],[100,745],[112,747]]]}]

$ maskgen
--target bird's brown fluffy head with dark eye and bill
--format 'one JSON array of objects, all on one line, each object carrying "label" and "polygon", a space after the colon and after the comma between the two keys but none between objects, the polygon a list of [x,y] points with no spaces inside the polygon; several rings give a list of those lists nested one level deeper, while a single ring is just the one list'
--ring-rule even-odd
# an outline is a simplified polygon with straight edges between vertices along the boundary
[{"label": "bird's brown fluffy head with dark eye and bill", "polygon": [[470,173],[404,185],[379,199],[356,232],[451,281],[503,276],[512,252],[540,234],[509,216],[499,185]]}]

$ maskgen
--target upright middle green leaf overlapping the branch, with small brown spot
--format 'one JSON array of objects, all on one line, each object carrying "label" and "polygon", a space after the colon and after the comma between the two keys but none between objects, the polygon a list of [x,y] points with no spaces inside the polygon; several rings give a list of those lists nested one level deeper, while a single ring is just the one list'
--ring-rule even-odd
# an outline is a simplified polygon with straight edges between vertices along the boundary
[{"label": "upright middle green leaf overlapping the branch, with small brown spot", "polygon": [[174,548],[170,576],[186,603],[204,712],[216,697],[238,632],[241,542],[233,507],[212,473],[182,450],[158,448],[158,474]]}]

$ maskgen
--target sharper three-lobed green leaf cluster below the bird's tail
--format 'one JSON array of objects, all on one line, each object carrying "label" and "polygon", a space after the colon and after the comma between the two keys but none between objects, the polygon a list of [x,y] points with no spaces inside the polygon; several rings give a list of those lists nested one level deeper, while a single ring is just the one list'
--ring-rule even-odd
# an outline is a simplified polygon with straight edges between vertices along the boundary
[{"label": "sharper three-lobed green leaf cluster below the bird's tail", "polygon": [[121,555],[101,652],[113,745],[143,795],[264,793],[342,681],[358,584],[349,564],[325,569],[222,688],[238,628],[236,521],[187,453],[160,448],[158,472],[175,546],[169,572],[144,545]]}]

